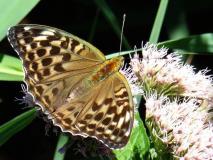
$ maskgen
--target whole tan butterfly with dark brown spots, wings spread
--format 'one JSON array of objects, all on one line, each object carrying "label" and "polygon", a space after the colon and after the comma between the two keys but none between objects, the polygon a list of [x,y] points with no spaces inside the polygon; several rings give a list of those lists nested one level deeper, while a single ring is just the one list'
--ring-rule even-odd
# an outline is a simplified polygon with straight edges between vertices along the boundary
[{"label": "whole tan butterfly with dark brown spots, wings spread", "polygon": [[123,57],[107,60],[90,43],[43,25],[13,26],[8,40],[22,60],[27,91],[54,125],[112,149],[127,144],[134,109],[119,72]]}]

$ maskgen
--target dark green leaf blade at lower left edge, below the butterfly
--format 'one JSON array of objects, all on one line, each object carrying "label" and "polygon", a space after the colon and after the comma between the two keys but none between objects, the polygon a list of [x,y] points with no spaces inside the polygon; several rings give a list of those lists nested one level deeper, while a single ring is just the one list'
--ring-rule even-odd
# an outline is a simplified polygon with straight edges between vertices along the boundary
[{"label": "dark green leaf blade at lower left edge, below the butterfly", "polygon": [[33,108],[21,115],[13,118],[9,122],[0,126],[0,146],[9,140],[13,135],[28,126],[36,117],[36,109]]}]

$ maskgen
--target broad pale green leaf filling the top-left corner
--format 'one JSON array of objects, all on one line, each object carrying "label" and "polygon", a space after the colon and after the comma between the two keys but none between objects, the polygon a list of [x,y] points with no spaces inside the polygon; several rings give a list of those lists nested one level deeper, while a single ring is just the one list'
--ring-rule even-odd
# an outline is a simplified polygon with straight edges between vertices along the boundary
[{"label": "broad pale green leaf filling the top-left corner", "polygon": [[39,2],[39,0],[0,0],[0,41],[7,29],[19,23]]}]

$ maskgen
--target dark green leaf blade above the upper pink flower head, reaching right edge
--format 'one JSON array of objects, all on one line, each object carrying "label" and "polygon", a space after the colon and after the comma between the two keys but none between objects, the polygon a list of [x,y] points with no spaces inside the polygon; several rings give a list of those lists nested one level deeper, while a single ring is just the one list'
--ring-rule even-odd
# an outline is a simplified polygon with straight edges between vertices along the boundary
[{"label": "dark green leaf blade above the upper pink flower head, reaching right edge", "polygon": [[204,33],[181,39],[160,42],[158,43],[158,46],[165,46],[170,49],[181,49],[189,52],[213,53],[213,33]]}]

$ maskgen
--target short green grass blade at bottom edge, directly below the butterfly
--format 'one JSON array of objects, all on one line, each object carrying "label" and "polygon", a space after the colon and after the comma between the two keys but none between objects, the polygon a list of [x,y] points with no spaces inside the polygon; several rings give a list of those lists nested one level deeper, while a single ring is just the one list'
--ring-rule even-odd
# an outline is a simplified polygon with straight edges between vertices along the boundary
[{"label": "short green grass blade at bottom edge, directly below the butterfly", "polygon": [[65,151],[60,152],[60,149],[63,148],[69,140],[69,137],[67,135],[64,135],[63,133],[60,134],[58,143],[56,146],[55,154],[54,154],[54,160],[63,160],[65,156]]}]

